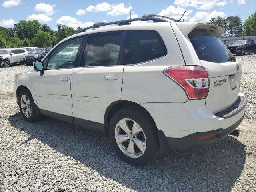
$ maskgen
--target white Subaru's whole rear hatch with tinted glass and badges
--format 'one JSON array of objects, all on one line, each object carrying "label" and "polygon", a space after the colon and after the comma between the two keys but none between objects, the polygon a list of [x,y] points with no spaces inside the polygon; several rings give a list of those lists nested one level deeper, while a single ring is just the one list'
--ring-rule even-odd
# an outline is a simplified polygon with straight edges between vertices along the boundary
[{"label": "white Subaru's whole rear hatch with tinted glass and badges", "polygon": [[[217,113],[230,107],[238,99],[242,66],[233,57],[220,38],[210,30],[194,29],[188,35],[200,64],[208,71],[210,78],[206,106]],[[239,65],[237,70],[236,65]]]}]

